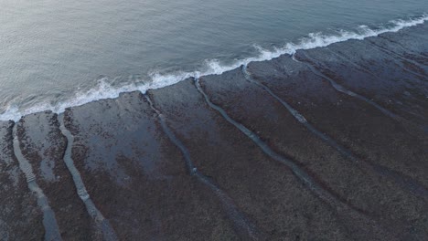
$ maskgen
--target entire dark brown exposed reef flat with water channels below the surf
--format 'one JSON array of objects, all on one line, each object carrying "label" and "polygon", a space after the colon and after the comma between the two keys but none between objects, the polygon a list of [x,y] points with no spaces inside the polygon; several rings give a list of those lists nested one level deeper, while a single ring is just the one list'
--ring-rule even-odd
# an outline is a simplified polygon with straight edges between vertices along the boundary
[{"label": "entire dark brown exposed reef flat with water channels below the surf", "polygon": [[2,240],[424,240],[428,25],[0,122],[0,138]]}]

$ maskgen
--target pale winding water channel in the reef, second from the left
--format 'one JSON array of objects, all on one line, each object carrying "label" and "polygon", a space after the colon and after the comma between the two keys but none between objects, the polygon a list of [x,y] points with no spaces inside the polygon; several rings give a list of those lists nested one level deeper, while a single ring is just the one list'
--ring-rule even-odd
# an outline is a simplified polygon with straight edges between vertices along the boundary
[{"label": "pale winding water channel in the reef, second from the left", "polygon": [[86,191],[85,184],[81,179],[79,170],[76,168],[76,166],[74,165],[74,161],[71,158],[71,149],[74,142],[74,136],[65,127],[63,118],[59,118],[59,123],[60,123],[59,130],[67,138],[67,148],[64,153],[63,160],[73,178],[73,182],[74,182],[74,185],[76,186],[76,190],[80,199],[85,204],[88,214],[91,215],[98,231],[102,233],[103,239],[107,241],[118,240],[109,221],[104,218],[104,216],[95,206],[95,204],[93,204],[90,194],[88,194],[88,192]]}]

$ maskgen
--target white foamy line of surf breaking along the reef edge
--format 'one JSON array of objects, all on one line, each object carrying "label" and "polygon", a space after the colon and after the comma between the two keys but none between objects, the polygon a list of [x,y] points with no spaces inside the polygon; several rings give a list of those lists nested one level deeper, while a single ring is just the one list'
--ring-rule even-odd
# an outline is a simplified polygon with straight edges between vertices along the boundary
[{"label": "white foamy line of surf breaking along the reef edge", "polygon": [[78,92],[70,100],[59,102],[56,105],[40,103],[33,107],[23,109],[18,107],[16,104],[10,104],[6,110],[0,114],[0,121],[18,121],[22,116],[45,110],[52,110],[56,113],[61,113],[67,108],[80,106],[94,100],[117,98],[122,92],[139,90],[144,93],[147,89],[163,88],[191,77],[199,78],[207,75],[219,75],[223,72],[239,68],[241,65],[247,65],[253,61],[271,60],[285,54],[293,55],[299,49],[326,47],[331,44],[344,42],[350,39],[362,40],[366,37],[376,37],[383,33],[398,32],[405,27],[417,26],[423,24],[425,21],[428,21],[428,15],[423,15],[409,20],[393,20],[387,27],[370,28],[369,26],[358,26],[356,31],[340,30],[337,35],[311,33],[307,35],[307,37],[301,38],[297,43],[286,43],[284,47],[265,49],[255,46],[256,50],[259,52],[258,56],[236,59],[230,65],[223,65],[218,59],[211,59],[206,61],[206,67],[203,70],[192,72],[180,71],[174,74],[154,72],[150,75],[151,79],[149,79],[149,81],[139,84],[131,83],[122,87],[113,87],[107,82],[107,79],[100,79],[95,88],[84,92]]}]

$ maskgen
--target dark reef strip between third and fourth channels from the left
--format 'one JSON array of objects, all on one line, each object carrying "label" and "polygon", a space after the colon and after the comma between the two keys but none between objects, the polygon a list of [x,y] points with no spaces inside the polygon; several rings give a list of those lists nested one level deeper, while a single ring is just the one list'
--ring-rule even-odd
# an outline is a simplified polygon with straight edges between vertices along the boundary
[{"label": "dark reef strip between third and fourth channels from the left", "polygon": [[210,110],[191,80],[150,95],[177,137],[191,147],[199,172],[219,183],[268,239],[348,239],[335,212]]}]

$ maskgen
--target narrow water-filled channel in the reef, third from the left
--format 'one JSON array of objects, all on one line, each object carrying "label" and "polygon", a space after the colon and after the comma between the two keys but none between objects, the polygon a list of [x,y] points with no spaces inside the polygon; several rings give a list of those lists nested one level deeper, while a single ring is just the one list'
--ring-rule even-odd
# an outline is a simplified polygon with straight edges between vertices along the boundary
[{"label": "narrow water-filled channel in the reef, third from the left", "polygon": [[233,200],[230,198],[228,194],[222,191],[215,183],[213,183],[207,176],[202,173],[199,173],[198,168],[194,165],[190,158],[190,154],[186,148],[186,146],[177,138],[173,131],[171,131],[166,124],[166,120],[164,115],[155,108],[153,100],[149,97],[149,95],[144,94],[145,99],[149,103],[152,110],[155,111],[158,120],[161,124],[162,130],[166,133],[167,137],[170,141],[172,141],[180,152],[183,154],[183,157],[186,161],[187,172],[195,176],[198,182],[203,183],[209,187],[209,189],[214,192],[219,197],[219,200],[223,204],[226,213],[229,215],[230,219],[233,221],[233,224],[237,231],[241,234],[241,236],[245,236],[246,239],[250,238],[251,240],[258,240],[262,236],[262,233],[258,230],[258,228],[251,224],[250,220],[245,217],[238,210],[235,204],[233,204]]}]

